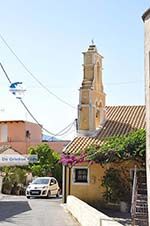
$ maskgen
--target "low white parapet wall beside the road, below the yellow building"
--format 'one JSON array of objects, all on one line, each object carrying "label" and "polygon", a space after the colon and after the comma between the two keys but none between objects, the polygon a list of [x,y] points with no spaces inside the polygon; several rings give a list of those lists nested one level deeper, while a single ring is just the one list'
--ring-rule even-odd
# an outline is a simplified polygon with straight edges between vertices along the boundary
[{"label": "low white parapet wall beside the road, below the yellow building", "polygon": [[122,226],[75,196],[67,197],[67,209],[82,226]]}]

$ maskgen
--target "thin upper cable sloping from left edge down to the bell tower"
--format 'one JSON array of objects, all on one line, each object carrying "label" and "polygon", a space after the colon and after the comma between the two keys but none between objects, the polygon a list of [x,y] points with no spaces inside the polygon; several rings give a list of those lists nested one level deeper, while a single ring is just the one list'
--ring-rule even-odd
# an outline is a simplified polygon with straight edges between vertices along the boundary
[{"label": "thin upper cable sloping from left edge down to the bell tower", "polygon": [[55,93],[53,93],[52,91],[50,91],[39,79],[36,78],[36,76],[28,69],[28,67],[23,63],[23,61],[17,56],[17,54],[15,53],[15,51],[8,45],[8,43],[6,42],[6,40],[4,39],[4,37],[0,34],[0,38],[1,40],[4,42],[4,44],[7,46],[7,48],[10,50],[10,52],[16,57],[16,59],[18,60],[18,62],[22,65],[22,67],[27,71],[28,74],[30,74],[30,76],[43,88],[45,89],[50,95],[54,96],[56,99],[58,99],[59,101],[61,101],[62,103],[68,105],[71,108],[76,109],[76,107],[72,106],[70,103],[68,103],[67,101],[63,100],[61,97],[57,96]]}]

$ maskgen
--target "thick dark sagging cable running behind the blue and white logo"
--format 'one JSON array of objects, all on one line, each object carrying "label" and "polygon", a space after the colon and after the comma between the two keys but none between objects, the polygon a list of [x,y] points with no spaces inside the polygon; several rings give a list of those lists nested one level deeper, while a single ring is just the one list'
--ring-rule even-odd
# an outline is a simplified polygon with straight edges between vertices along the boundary
[{"label": "thick dark sagging cable running behind the blue and white logo", "polygon": [[[10,80],[8,74],[6,73],[6,71],[5,71],[5,69],[4,69],[4,67],[3,67],[3,65],[2,65],[1,62],[0,62],[0,66],[1,66],[1,68],[2,68],[2,70],[3,70],[3,72],[4,72],[4,74],[5,74],[5,76],[6,76],[6,78],[7,78],[7,80],[8,80],[9,83],[11,84],[12,82],[11,82],[11,80]],[[38,124],[38,126],[39,126],[41,129],[43,129],[45,132],[47,132],[48,134],[50,134],[50,135],[52,135],[52,136],[57,136],[58,134],[60,134],[62,131],[64,131],[66,128],[68,128],[70,125],[72,125],[72,124],[74,123],[74,122],[73,122],[73,123],[70,123],[67,127],[65,127],[63,130],[61,130],[59,133],[54,134],[54,133],[50,132],[49,130],[47,130],[46,128],[44,128],[44,127],[39,123],[39,121],[38,121],[38,120],[34,117],[34,115],[30,112],[29,108],[25,105],[25,103],[23,102],[22,99],[19,99],[19,100],[20,100],[21,104],[23,105],[23,107],[26,109],[26,111],[29,113],[29,115],[32,117],[32,119]]]}]

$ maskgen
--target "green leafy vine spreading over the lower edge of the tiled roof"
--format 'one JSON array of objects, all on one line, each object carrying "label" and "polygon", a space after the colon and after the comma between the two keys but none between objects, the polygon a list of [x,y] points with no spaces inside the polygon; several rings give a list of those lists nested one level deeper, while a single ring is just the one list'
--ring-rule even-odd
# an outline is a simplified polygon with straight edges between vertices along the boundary
[{"label": "green leafy vine spreading over the lower edge of the tiled roof", "polygon": [[145,162],[146,132],[138,129],[124,136],[109,137],[100,146],[86,150],[87,159],[97,163],[137,160]]}]

